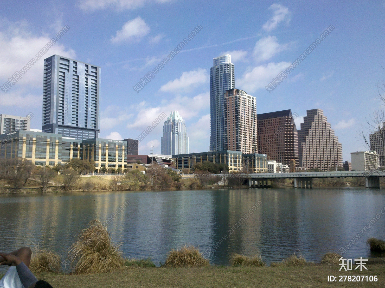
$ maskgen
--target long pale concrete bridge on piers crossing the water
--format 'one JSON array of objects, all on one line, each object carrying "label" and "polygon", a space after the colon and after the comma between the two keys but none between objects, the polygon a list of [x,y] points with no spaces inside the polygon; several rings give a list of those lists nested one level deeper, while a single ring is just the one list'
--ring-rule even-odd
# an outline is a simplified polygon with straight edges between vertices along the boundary
[{"label": "long pale concrete bridge on piers crossing the water", "polygon": [[312,188],[313,178],[365,177],[365,187],[380,188],[380,177],[385,177],[385,170],[372,171],[335,171],[335,172],[294,172],[294,173],[253,173],[241,174],[248,179],[249,187],[267,187],[268,179],[294,179],[295,188]]}]

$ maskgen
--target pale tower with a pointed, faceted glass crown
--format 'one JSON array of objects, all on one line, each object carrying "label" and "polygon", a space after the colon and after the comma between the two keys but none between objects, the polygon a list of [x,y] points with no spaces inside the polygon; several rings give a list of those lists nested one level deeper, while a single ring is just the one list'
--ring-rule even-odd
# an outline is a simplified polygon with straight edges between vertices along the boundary
[{"label": "pale tower with a pointed, faceted glass crown", "polygon": [[163,124],[161,154],[177,155],[188,153],[190,153],[190,148],[186,123],[183,121],[178,111],[173,111]]}]

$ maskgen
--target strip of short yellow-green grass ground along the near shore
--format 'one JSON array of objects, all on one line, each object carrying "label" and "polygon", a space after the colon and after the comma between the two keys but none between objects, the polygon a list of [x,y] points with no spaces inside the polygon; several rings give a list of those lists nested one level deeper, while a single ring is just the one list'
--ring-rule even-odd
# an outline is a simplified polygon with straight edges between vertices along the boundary
[{"label": "strip of short yellow-green grass ground along the near shore", "polygon": [[[208,266],[201,268],[123,267],[119,271],[86,275],[45,273],[40,279],[60,287],[385,287],[385,264],[366,265],[365,271],[338,271],[321,264],[275,267]],[[328,275],[337,277],[329,283]],[[377,275],[377,282],[338,282],[339,275]],[[39,278],[38,277],[38,278]],[[366,278],[365,278],[366,280]]]}]

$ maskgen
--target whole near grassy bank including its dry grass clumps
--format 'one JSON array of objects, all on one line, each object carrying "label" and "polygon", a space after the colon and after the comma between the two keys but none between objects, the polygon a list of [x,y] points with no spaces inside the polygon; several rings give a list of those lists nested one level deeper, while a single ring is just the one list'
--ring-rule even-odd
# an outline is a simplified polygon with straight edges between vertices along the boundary
[{"label": "whole near grassy bank including its dry grass clumps", "polygon": [[[373,241],[382,243],[374,238],[368,241],[371,250]],[[124,258],[107,228],[92,220],[69,248],[61,263],[64,270],[58,269],[59,255],[41,249],[32,255],[31,270],[54,287],[326,287],[330,285],[328,275],[337,279],[339,275],[377,275],[377,282],[364,286],[385,286],[381,277],[385,258],[369,258],[368,270],[339,271],[340,256],[327,253],[320,263],[314,263],[294,254],[267,266],[263,255],[232,254],[229,265],[223,266],[211,265],[199,248],[184,246],[171,250],[165,263],[156,266],[151,258]],[[362,285],[355,284],[349,283],[352,287]]]}]

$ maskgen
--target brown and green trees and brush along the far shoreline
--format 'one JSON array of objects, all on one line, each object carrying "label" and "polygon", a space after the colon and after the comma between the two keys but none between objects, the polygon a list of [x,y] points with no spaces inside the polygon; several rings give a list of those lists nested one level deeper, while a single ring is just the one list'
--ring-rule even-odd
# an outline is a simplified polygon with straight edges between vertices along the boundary
[{"label": "brown and green trees and brush along the far shoreline", "polygon": [[[207,161],[206,161],[207,162]],[[37,167],[22,158],[0,159],[0,194],[85,191],[154,191],[201,189],[249,189],[241,172],[227,172],[228,167],[211,162],[197,164],[192,177],[182,177],[172,169],[157,164],[141,169],[110,169],[109,175],[89,175],[92,162],[72,159],[65,165]],[[140,166],[142,167],[142,166]],[[143,168],[143,167],[142,167]],[[144,168],[143,168],[144,169]],[[193,171],[183,169],[184,174]],[[116,173],[116,174],[114,174]],[[216,174],[224,173],[223,177]],[[380,179],[385,184],[385,179]],[[269,179],[270,188],[293,187],[293,179]],[[365,187],[365,177],[315,178],[313,187]]]}]

